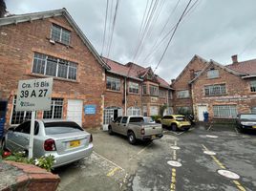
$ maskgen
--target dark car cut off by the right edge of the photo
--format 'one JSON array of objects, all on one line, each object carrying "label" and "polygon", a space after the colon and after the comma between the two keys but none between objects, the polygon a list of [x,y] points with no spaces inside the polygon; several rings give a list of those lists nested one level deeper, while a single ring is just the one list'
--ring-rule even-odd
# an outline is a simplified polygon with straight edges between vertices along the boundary
[{"label": "dark car cut off by the right edge of the photo", "polygon": [[241,132],[246,129],[256,131],[256,114],[239,114],[236,118],[236,127]]}]

